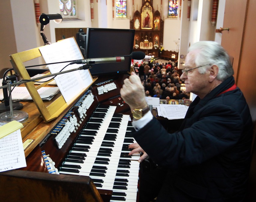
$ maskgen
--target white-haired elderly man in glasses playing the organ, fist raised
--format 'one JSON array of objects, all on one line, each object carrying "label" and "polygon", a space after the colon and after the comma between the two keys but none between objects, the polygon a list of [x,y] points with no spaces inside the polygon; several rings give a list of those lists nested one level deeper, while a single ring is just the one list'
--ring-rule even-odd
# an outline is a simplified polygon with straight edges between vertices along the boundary
[{"label": "white-haired elderly man in glasses playing the organ, fist raised", "polygon": [[185,64],[181,79],[197,97],[175,133],[148,112],[139,77],[132,74],[120,91],[136,129],[130,154],[145,151],[139,161],[148,155],[158,165],[140,177],[140,202],[246,201],[252,122],[229,56],[218,43],[200,41]]}]

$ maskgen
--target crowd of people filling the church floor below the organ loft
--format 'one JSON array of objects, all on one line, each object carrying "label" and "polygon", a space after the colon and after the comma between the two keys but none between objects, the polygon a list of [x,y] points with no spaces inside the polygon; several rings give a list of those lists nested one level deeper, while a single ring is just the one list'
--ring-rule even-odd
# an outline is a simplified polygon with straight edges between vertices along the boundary
[{"label": "crowd of people filling the church floor below the organ loft", "polygon": [[144,62],[139,66],[139,77],[145,88],[145,96],[174,100],[189,98],[190,94],[181,89],[177,63]]}]

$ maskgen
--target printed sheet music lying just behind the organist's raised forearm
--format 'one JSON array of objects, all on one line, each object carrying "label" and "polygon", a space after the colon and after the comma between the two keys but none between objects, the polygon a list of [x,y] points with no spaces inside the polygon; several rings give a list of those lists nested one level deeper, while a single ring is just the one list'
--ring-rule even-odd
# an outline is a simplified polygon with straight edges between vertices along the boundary
[{"label": "printed sheet music lying just behind the organist's raised forearm", "polygon": [[184,119],[188,106],[182,104],[159,104],[158,115],[167,119]]}]

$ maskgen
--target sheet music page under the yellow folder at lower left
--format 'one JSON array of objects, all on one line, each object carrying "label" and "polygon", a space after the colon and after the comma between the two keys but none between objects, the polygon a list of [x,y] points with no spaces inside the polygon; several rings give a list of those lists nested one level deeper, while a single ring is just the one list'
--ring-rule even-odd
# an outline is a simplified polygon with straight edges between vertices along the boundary
[{"label": "sheet music page under the yellow folder at lower left", "polygon": [[0,139],[0,172],[26,166],[27,164],[19,129]]}]

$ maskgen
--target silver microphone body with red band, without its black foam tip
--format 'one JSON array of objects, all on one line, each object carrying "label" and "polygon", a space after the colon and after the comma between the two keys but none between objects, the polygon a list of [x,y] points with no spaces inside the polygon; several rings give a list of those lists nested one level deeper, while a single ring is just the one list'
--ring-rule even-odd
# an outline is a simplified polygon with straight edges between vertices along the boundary
[{"label": "silver microphone body with red band, without its black foam tip", "polygon": [[99,63],[111,63],[111,62],[124,62],[124,57],[82,59],[82,60],[76,60],[74,62],[71,62],[70,65],[73,65],[73,64],[93,65],[93,64],[99,64]]}]

